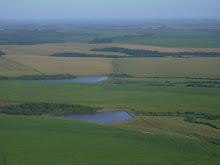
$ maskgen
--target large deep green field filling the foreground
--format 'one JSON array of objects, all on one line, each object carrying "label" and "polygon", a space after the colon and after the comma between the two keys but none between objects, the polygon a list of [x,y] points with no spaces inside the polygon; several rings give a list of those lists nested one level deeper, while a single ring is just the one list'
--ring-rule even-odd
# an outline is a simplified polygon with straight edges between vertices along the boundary
[{"label": "large deep green field filling the foreground", "polygon": [[0,116],[0,161],[47,164],[216,164],[206,142],[42,117]]}]

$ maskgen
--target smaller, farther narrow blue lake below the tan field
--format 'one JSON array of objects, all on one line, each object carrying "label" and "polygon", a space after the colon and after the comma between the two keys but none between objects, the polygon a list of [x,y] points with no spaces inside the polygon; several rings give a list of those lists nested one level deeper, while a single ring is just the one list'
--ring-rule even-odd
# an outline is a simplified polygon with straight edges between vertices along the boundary
[{"label": "smaller, farther narrow blue lake below the tan field", "polygon": [[78,77],[78,78],[74,78],[74,79],[51,79],[51,80],[34,80],[34,81],[95,83],[95,82],[104,81],[107,79],[108,79],[108,77]]}]

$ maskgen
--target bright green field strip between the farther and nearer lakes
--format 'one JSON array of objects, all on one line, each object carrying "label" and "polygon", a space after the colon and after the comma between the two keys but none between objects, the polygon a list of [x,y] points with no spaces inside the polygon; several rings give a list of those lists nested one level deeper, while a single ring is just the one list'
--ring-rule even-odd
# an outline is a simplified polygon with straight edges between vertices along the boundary
[{"label": "bright green field strip between the farther and nearer lakes", "polygon": [[0,81],[1,100],[128,107],[148,112],[219,114],[219,88]]}]

